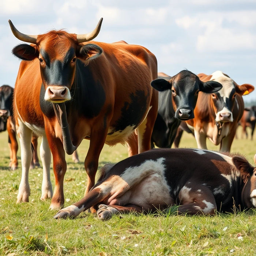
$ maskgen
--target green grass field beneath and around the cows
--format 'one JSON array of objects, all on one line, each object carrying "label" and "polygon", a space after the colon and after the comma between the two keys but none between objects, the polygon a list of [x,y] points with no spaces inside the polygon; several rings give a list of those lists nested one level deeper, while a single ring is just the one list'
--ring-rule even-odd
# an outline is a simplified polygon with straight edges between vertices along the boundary
[{"label": "green grass field beneath and around the cows", "polygon": [[[238,138],[241,138],[238,131]],[[50,200],[42,202],[42,168],[30,171],[30,202],[16,204],[21,169],[8,169],[7,133],[0,133],[0,255],[255,255],[256,211],[217,214],[212,217],[177,216],[158,212],[151,215],[116,215],[102,222],[84,212],[76,219],[53,219]],[[78,148],[83,161],[89,143]],[[192,135],[184,133],[181,147],[196,147]],[[218,150],[208,143],[209,149]],[[244,154],[253,164],[254,140],[235,139],[232,152]],[[18,151],[20,156],[20,151]],[[105,146],[99,167],[127,157],[122,145]],[[65,206],[79,200],[86,185],[83,162],[67,156]],[[52,183],[54,178],[52,173]]]}]

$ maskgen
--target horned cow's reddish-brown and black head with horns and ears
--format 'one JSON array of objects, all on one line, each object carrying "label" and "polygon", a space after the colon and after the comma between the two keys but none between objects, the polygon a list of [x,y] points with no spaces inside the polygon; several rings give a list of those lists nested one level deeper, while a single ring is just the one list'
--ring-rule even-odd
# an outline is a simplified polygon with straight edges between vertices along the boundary
[{"label": "horned cow's reddish-brown and black head with horns and ears", "polygon": [[[21,44],[12,53],[22,60],[38,59],[42,83],[45,87],[45,101],[61,103],[71,99],[70,89],[75,80],[77,59],[87,64],[98,57],[102,49],[94,44],[81,45],[99,33],[101,22],[89,34],[69,34],[63,30],[50,31],[46,34],[29,36],[20,33],[9,21],[14,35],[34,45]],[[84,65],[83,64],[83,65]]]}]

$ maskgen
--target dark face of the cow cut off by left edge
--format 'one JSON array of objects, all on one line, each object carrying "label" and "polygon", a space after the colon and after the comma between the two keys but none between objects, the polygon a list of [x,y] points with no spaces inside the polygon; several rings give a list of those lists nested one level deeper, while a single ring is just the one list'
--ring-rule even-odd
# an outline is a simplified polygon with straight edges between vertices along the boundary
[{"label": "dark face of the cow cut off by left edge", "polygon": [[8,85],[0,87],[0,118],[4,122],[11,116],[13,91],[14,89]]}]

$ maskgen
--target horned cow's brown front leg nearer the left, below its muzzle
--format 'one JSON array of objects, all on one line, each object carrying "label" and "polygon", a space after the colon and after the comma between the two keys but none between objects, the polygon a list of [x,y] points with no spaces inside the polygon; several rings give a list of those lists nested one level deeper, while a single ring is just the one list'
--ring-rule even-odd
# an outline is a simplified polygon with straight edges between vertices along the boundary
[{"label": "horned cow's brown front leg nearer the left, below its muzzle", "polygon": [[[47,136],[50,150],[53,156],[53,172],[55,177],[55,187],[50,204],[50,209],[60,209],[64,206],[64,175],[67,170],[67,162],[65,161],[65,151],[63,144],[59,138]],[[46,163],[47,165],[49,163]],[[46,171],[48,172],[48,171]]]}]

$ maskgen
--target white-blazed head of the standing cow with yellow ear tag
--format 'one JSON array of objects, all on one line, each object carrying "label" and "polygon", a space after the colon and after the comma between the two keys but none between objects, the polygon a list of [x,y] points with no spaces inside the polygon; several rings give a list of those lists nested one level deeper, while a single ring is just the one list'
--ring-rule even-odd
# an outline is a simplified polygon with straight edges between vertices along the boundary
[{"label": "white-blazed head of the standing cow with yellow ear tag", "polygon": [[216,114],[216,122],[233,122],[233,109],[236,102],[236,95],[248,94],[253,91],[254,87],[250,84],[239,86],[229,76],[217,71],[212,74],[211,80],[222,84],[222,89],[217,93],[212,93],[212,108]]}]

